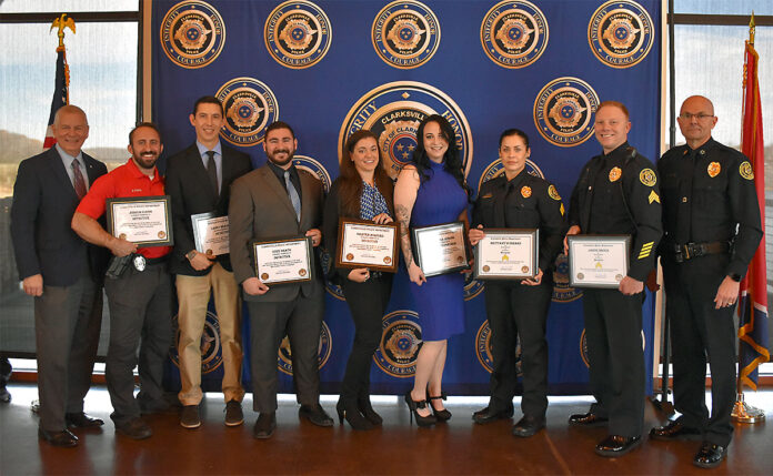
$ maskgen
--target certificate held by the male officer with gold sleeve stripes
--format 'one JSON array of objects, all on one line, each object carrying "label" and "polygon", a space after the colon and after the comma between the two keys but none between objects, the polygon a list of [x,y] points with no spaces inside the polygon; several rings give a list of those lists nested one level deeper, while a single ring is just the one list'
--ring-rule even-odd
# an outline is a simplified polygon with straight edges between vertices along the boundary
[{"label": "certificate held by the male officer with gold sleeve stripes", "polygon": [[[623,255],[614,256],[614,264],[608,270],[603,269],[601,261],[596,260],[602,271],[598,271],[595,276],[584,276],[586,266],[583,267],[578,260],[586,262],[588,259],[581,257],[581,253],[588,251],[582,247],[614,246]],[[566,236],[566,247],[569,249],[569,285],[571,287],[599,287],[618,288],[620,281],[628,275],[629,256],[631,253],[631,235],[569,235]],[[596,269],[598,270],[598,269]],[[614,274],[612,274],[614,273]]]}]

